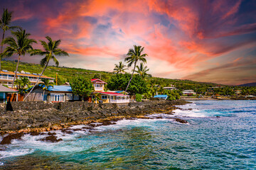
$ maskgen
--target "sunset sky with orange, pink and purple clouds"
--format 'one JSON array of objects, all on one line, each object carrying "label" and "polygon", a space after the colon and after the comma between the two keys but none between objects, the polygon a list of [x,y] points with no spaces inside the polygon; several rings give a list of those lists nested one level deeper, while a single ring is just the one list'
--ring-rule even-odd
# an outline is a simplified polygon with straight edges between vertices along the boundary
[{"label": "sunset sky with orange, pink and purple clouds", "polygon": [[[141,45],[154,77],[256,81],[255,0],[0,1],[0,10],[14,12],[11,25],[31,38],[62,40],[70,57],[58,57],[60,66],[112,72],[129,48]],[[41,58],[26,55],[21,62]]]}]

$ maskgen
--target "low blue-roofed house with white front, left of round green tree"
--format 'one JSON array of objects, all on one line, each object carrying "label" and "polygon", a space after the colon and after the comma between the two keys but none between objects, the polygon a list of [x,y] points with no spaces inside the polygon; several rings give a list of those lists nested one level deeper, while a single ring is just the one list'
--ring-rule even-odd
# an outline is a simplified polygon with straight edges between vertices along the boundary
[{"label": "low blue-roofed house with white front, left of round green tree", "polygon": [[50,102],[65,102],[78,101],[79,96],[74,95],[71,86],[50,86],[48,91],[44,91],[41,86],[37,86],[31,95],[27,98],[28,101],[50,101]]}]

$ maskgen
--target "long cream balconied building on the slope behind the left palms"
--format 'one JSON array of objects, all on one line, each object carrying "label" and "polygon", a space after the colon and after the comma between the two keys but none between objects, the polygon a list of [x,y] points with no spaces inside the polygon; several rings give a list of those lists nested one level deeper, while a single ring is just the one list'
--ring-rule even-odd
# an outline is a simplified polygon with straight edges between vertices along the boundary
[{"label": "long cream balconied building on the slope behind the left palms", "polygon": [[[11,87],[12,82],[14,81],[14,75],[15,75],[15,72],[10,72],[5,69],[1,70],[0,71],[0,84]],[[17,72],[17,78],[18,77],[28,77],[28,80],[31,81],[31,85],[36,84],[36,81],[37,81],[39,75],[40,74],[36,74],[36,73],[31,74],[29,72],[24,72],[24,71]],[[41,76],[41,79],[49,79],[50,82],[54,81],[54,78],[46,77],[46,76]]]}]

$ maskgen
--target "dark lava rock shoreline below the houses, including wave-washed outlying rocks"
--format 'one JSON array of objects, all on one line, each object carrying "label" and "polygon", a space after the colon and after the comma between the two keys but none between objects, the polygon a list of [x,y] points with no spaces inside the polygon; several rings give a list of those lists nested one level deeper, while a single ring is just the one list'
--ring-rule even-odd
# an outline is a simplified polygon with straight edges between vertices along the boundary
[{"label": "dark lava rock shoreline below the houses, including wave-washed outlying rocks", "polygon": [[[187,101],[149,101],[113,105],[110,103],[95,104],[87,102],[70,103],[12,103],[13,111],[1,113],[0,132],[4,135],[0,144],[10,144],[11,140],[21,139],[24,134],[41,135],[48,132],[43,138],[46,142],[59,142],[51,130],[62,130],[71,133],[68,128],[72,125],[88,125],[87,129],[98,125],[113,125],[117,120],[145,118],[152,113],[173,114],[176,105],[183,105]],[[23,106],[22,106],[23,105]],[[23,108],[23,110],[21,109]],[[156,117],[161,118],[161,116]],[[186,120],[171,118],[179,123]],[[96,124],[95,124],[96,123]],[[5,135],[9,133],[9,135]]]}]

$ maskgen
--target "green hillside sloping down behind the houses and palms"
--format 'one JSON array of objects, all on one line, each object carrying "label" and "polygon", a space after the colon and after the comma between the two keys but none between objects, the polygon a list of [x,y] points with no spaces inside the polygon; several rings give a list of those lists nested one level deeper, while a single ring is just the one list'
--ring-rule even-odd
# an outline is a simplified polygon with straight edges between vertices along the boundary
[{"label": "green hillside sloping down behind the houses and palms", "polygon": [[[11,72],[14,72],[16,69],[16,62],[14,61],[7,61],[4,60],[1,62],[1,69],[6,69]],[[113,66],[114,67],[114,66]],[[18,72],[23,70],[24,72],[30,73],[41,73],[43,67],[40,64],[32,64],[26,62],[20,62],[18,66]],[[46,71],[44,72],[45,76],[48,77],[56,77],[56,73],[58,73],[58,84],[64,84],[65,82],[69,81],[71,77],[75,75],[82,75],[83,77],[87,77],[89,79],[99,78],[103,81],[108,81],[112,76],[112,72],[102,72],[90,69],[78,69],[78,68],[70,68],[70,67],[55,67],[55,66],[48,66]],[[213,83],[203,83],[197,81],[190,81],[190,80],[181,80],[181,79],[164,79],[159,77],[150,77],[147,81],[154,80],[154,84],[160,86],[171,86],[176,85],[180,87],[180,89],[193,89],[193,86],[216,86],[217,84]]]}]

